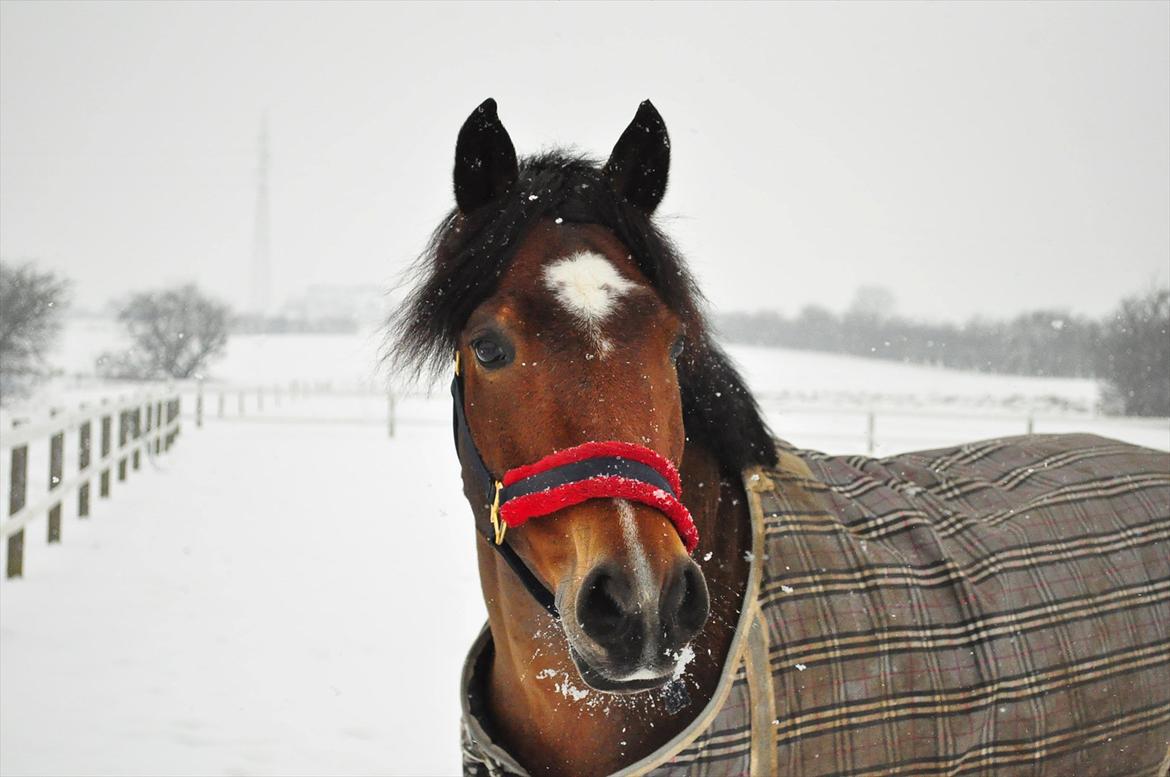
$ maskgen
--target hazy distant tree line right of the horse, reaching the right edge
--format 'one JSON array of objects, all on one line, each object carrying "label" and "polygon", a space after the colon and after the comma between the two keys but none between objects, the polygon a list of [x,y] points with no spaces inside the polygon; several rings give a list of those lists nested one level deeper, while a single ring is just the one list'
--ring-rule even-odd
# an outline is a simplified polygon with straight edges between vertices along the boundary
[{"label": "hazy distant tree line right of the horse, reaching the right edge", "polygon": [[1100,378],[1108,410],[1170,415],[1170,289],[1126,298],[1103,319],[1038,310],[1006,321],[924,323],[890,315],[892,297],[863,288],[844,314],[807,307],[716,317],[732,343],[853,353],[980,372]]}]

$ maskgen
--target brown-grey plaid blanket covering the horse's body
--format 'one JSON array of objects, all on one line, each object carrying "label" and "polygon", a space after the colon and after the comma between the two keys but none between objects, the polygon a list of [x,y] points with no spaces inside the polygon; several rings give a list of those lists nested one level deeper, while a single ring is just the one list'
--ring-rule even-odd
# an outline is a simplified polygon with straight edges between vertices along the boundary
[{"label": "brown-grey plaid blanket covering the horse's body", "polygon": [[[1165,775],[1170,456],[1034,435],[744,474],[745,606],[706,710],[622,775]],[[524,770],[476,718],[469,775]]]}]

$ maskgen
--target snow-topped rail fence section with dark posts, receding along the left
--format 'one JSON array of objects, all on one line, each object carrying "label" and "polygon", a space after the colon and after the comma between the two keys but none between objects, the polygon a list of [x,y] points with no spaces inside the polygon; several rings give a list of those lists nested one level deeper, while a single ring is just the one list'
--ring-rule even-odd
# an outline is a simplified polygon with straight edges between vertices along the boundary
[{"label": "snow-topped rail fence section with dark posts, receding along the left", "polygon": [[[117,427],[115,427],[117,419]],[[0,449],[9,461],[8,517],[0,523],[7,539],[7,577],[21,577],[25,569],[25,528],[48,515],[48,542],[61,542],[61,514],[67,496],[77,491],[77,517],[90,511],[90,481],[97,479],[98,495],[110,496],[113,472],[119,481],[142,466],[142,454],[168,451],[179,434],[180,397],[174,387],[158,388],[129,398],[103,399],[71,412],[49,411],[36,421],[14,419],[0,435]],[[66,435],[77,433],[77,469],[66,475]],[[95,456],[94,442],[97,438]],[[29,503],[29,448],[48,441],[48,488]]]}]

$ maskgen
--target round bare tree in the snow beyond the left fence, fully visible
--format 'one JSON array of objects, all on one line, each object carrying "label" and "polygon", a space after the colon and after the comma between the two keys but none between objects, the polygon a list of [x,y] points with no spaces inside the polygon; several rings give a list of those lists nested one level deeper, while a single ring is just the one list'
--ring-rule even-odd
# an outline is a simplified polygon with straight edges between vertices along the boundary
[{"label": "round bare tree in the snow beyond the left fence, fully visible", "polygon": [[230,311],[194,286],[136,294],[118,311],[131,348],[98,359],[110,378],[191,378],[227,344]]}]

